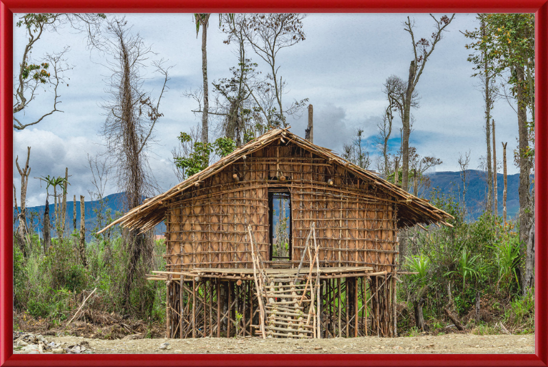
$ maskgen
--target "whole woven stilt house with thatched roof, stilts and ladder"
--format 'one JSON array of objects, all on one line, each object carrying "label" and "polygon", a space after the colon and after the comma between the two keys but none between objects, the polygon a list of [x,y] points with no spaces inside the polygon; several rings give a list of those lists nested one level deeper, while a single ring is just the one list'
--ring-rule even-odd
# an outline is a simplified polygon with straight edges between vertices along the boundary
[{"label": "whole woven stilt house with thatched roof, stilts and ladder", "polygon": [[164,221],[168,338],[395,336],[397,231],[451,216],[273,129],[112,223]]}]

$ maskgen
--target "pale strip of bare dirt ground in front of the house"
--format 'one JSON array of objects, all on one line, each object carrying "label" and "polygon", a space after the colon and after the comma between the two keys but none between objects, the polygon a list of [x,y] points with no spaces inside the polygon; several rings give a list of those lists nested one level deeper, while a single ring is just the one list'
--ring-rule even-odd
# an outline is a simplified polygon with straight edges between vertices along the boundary
[{"label": "pale strip of bare dirt ground in front of the house", "polygon": [[262,340],[261,338],[98,340],[74,336],[47,336],[46,338],[48,342],[55,342],[61,346],[84,344],[90,349],[90,353],[534,353],[534,335],[477,336],[455,333],[442,336],[322,340]]}]

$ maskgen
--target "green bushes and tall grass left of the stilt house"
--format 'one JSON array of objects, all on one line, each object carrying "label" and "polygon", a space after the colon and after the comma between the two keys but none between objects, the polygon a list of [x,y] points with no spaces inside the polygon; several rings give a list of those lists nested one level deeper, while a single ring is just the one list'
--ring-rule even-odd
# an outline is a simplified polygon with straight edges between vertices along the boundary
[{"label": "green bushes and tall grass left of the stilt house", "polygon": [[[88,266],[82,265],[77,251],[78,235],[62,242],[52,240],[44,255],[36,234],[25,258],[14,247],[14,310],[34,318],[47,318],[53,325],[68,321],[91,290],[94,296],[86,303],[93,312],[123,315],[149,323],[165,322],[166,285],[136,277],[129,310],[122,308],[121,288],[127,277],[127,251],[121,237],[112,242],[88,242]],[[165,270],[164,241],[155,241],[153,268]],[[84,296],[85,295],[85,296]]]}]

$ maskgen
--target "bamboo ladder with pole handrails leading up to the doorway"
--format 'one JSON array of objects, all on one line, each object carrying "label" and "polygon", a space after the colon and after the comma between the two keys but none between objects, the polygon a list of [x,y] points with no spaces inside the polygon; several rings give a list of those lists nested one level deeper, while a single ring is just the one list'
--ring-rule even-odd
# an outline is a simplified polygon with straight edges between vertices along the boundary
[{"label": "bamboo ladder with pole handrails leading up to the doorway", "polygon": [[[247,230],[251,242],[253,277],[260,312],[260,325],[253,325],[256,328],[256,334],[262,338],[319,338],[320,333],[317,327],[319,313],[314,308],[314,299],[316,293],[319,292],[320,269],[314,223],[312,223],[312,229],[306,238],[299,267],[295,271],[271,272],[268,275],[260,255],[255,255],[251,226],[248,226]],[[308,246],[311,235],[314,239],[314,257],[312,257],[312,251]],[[310,270],[306,282],[303,284],[302,282],[298,283],[298,279],[307,251],[310,258]],[[316,262],[315,279],[312,277],[314,262]],[[307,296],[309,290],[310,297]],[[263,303],[263,299],[266,299],[266,302]],[[305,313],[306,303],[310,303],[308,314]]]}]

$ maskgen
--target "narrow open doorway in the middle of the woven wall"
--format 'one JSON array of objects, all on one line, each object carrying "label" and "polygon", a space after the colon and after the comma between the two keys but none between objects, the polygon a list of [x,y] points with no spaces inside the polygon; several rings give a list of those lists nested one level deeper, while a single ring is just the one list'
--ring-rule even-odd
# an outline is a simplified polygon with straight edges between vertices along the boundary
[{"label": "narrow open doorway in the middle of the woven wall", "polygon": [[289,190],[269,190],[270,260],[291,260],[291,195]]}]

